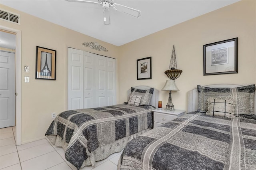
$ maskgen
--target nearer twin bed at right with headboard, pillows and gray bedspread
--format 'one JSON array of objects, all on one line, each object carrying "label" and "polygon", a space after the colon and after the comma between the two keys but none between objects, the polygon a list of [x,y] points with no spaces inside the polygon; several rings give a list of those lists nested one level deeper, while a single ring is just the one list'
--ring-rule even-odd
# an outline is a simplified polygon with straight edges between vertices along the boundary
[{"label": "nearer twin bed at right with headboard, pillows and gray bedspread", "polygon": [[255,85],[198,86],[190,112],[128,142],[117,169],[255,170],[254,100]]}]

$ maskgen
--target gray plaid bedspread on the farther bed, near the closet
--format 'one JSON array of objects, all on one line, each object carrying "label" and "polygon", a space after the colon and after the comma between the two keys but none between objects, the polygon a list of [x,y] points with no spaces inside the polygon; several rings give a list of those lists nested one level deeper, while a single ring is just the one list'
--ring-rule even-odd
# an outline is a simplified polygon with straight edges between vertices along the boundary
[{"label": "gray plaid bedspread on the farther bed, near the closet", "polygon": [[[97,160],[94,151],[100,146],[117,140],[124,142],[122,138],[152,128],[153,109],[153,106],[119,104],[64,111],[54,119],[45,136],[64,148],[65,158],[77,169],[94,166]],[[88,159],[89,164],[85,162]]]}]

